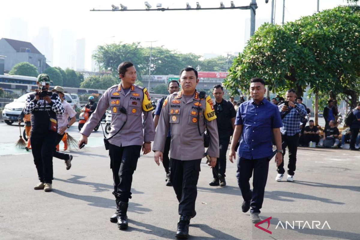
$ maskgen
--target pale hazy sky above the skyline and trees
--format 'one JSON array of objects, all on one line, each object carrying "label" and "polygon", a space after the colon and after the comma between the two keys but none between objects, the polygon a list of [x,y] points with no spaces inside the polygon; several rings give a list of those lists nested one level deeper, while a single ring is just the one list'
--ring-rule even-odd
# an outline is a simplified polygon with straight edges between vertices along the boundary
[{"label": "pale hazy sky above the skyline and trees", "polygon": [[[218,7],[218,0],[198,0],[203,8]],[[236,6],[249,5],[251,0],[233,0]],[[185,8],[186,2],[196,7],[196,1],[157,0],[148,2],[153,6],[162,3],[167,8]],[[91,68],[91,51],[97,45],[112,42],[155,42],[153,46],[177,49],[184,53],[223,54],[239,52],[244,47],[244,31],[250,10],[202,10],[202,11],[167,11],[167,12],[90,12],[90,9],[111,9],[111,4],[121,4],[128,9],[144,9],[143,0],[116,1],[49,1],[17,0],[0,1],[0,37],[9,37],[10,19],[22,18],[28,24],[28,41],[37,35],[40,27],[50,27],[54,37],[54,60],[51,65],[59,64],[59,46],[61,30],[72,30],[75,39],[86,39],[85,67]],[[230,6],[230,1],[224,1]],[[345,5],[343,0],[320,0],[320,11],[338,5]],[[271,0],[257,0],[256,19],[270,22]],[[316,0],[285,0],[285,22],[293,21],[304,15],[316,12]],[[283,0],[276,1],[276,23],[282,21]],[[115,37],[112,37],[115,36]],[[74,43],[75,44],[75,43]]]}]

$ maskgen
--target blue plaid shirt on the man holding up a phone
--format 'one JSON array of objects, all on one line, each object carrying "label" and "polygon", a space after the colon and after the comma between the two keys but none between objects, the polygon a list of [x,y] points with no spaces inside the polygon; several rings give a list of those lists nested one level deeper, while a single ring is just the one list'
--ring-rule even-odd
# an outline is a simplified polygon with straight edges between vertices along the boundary
[{"label": "blue plaid shirt on the man holding up a phone", "polygon": [[[284,106],[283,104],[279,105],[279,112],[281,116],[283,116],[286,112],[283,112],[281,109]],[[296,104],[296,106],[290,107],[289,106],[289,113],[283,118],[283,127],[280,128],[282,135],[287,136],[294,136],[296,133],[299,133],[301,131],[300,123],[301,118],[305,118],[307,112],[302,104]]]}]

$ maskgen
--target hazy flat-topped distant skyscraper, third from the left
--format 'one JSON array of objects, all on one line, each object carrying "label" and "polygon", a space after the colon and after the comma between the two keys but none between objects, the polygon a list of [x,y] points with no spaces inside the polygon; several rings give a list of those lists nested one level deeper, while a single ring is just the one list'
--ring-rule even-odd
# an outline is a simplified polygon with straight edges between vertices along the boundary
[{"label": "hazy flat-topped distant skyscraper, third from the left", "polygon": [[74,68],[75,36],[71,30],[61,30],[60,33],[60,68]]}]

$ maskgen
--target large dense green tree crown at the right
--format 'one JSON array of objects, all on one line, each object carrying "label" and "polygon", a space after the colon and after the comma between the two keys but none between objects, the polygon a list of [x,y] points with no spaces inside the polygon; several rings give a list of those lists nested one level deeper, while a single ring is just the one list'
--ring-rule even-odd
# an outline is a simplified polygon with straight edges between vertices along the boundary
[{"label": "large dense green tree crown at the right", "polygon": [[[267,80],[270,90],[356,91],[359,76],[360,15],[357,6],[340,6],[283,26],[264,24],[229,70],[225,86],[232,94],[248,90],[249,79]],[[355,99],[355,98],[351,98]]]}]

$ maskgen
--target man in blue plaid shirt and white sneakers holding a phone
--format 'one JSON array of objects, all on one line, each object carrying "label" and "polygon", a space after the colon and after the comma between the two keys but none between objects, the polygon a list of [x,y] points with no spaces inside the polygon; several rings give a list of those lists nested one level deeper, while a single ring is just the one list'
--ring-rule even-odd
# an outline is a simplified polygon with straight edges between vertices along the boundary
[{"label": "man in blue plaid shirt and white sneakers holding a phone", "polygon": [[[285,155],[285,148],[289,149],[289,163],[287,181],[293,181],[294,172],[296,169],[296,152],[299,143],[300,120],[307,114],[305,107],[302,104],[295,104],[296,94],[294,89],[286,91],[286,102],[279,105],[281,118],[283,119],[283,127],[281,131],[281,141],[283,149],[283,158]],[[287,104],[288,103],[288,104]],[[278,175],[276,181],[281,181],[284,177],[284,161],[278,167]]]}]

